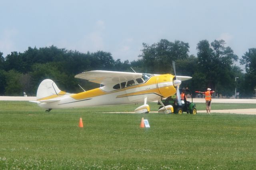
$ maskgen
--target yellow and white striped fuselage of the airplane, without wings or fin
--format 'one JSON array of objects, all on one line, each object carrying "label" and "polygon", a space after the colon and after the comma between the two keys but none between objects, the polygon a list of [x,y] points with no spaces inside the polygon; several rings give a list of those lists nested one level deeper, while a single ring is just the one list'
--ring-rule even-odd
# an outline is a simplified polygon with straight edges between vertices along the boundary
[{"label": "yellow and white striped fuselage of the airplane, without wings or fin", "polygon": [[176,93],[173,78],[174,76],[170,74],[154,75],[143,83],[120,89],[110,89],[109,86],[104,86],[77,94],[62,92],[38,99],[38,101],[56,99],[56,101],[38,105],[46,109],[58,109],[143,103],[145,98],[147,101],[156,101]]}]

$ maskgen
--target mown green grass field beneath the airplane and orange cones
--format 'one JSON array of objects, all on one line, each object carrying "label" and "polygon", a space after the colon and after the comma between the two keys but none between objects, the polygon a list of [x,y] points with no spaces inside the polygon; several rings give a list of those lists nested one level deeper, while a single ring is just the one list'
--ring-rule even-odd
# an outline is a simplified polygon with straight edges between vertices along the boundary
[{"label": "mown green grass field beneath the airplane and orange cones", "polygon": [[[255,115],[100,113],[136,107],[46,113],[34,103],[0,101],[0,169],[255,169]],[[150,103],[152,111],[158,107]],[[212,104],[241,108],[256,106]],[[139,128],[142,117],[150,128]]]}]

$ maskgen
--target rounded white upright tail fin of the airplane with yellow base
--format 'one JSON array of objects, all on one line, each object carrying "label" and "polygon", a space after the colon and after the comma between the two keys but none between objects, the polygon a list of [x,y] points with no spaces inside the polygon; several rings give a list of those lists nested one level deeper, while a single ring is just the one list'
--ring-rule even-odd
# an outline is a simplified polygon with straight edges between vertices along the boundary
[{"label": "rounded white upright tail fin of the airplane with yellow base", "polygon": [[64,95],[66,92],[61,91],[57,85],[51,79],[43,80],[36,93],[37,100],[48,100],[56,97],[60,97],[59,95]]}]

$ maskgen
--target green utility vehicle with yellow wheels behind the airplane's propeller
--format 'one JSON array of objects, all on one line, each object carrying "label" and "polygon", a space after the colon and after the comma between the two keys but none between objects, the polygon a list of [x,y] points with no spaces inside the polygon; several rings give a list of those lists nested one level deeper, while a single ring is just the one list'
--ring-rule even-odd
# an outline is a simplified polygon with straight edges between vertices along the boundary
[{"label": "green utility vehicle with yellow wheels behind the airplane's propeller", "polygon": [[[184,100],[181,101],[182,105],[178,104],[178,99],[176,98],[176,95],[169,96],[166,99],[161,100],[162,103],[167,106],[167,105],[172,105],[174,113],[178,113],[181,115],[183,112],[190,113],[193,115],[196,115],[196,104],[193,103],[193,97],[191,94],[191,91],[189,89],[180,89],[180,91],[183,91],[186,96],[189,96],[189,100],[191,99],[192,101],[187,101],[186,97]],[[158,102],[158,105],[161,105]],[[162,106],[159,107],[159,109],[162,108]]]}]

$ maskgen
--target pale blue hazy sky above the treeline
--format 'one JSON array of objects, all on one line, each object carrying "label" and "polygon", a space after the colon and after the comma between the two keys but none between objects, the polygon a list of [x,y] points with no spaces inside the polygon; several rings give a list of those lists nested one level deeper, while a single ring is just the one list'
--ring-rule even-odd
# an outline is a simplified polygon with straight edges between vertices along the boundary
[{"label": "pale blue hazy sky above the treeline", "polygon": [[236,55],[256,47],[255,0],[1,0],[0,51],[48,47],[137,60],[142,43],[223,39]]}]

